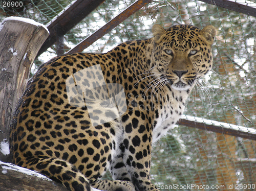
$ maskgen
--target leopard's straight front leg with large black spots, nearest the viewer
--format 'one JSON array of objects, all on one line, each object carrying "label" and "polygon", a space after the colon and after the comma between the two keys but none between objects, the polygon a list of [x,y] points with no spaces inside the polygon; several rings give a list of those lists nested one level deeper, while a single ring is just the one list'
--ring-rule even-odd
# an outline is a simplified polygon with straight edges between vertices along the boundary
[{"label": "leopard's straight front leg with large black spots, nearest the viewer", "polygon": [[[123,116],[123,162],[127,172],[131,177],[131,181],[135,185],[136,191],[159,191],[155,185],[151,183],[150,167],[152,153],[152,128],[146,118],[146,112],[140,112],[142,120],[133,117],[131,120],[125,121],[125,118],[132,116]],[[130,112],[131,114],[131,112]],[[126,115],[129,115],[127,113]],[[133,115],[134,116],[134,115]],[[144,119],[144,120],[143,120]],[[151,121],[151,120],[150,120]]]}]

